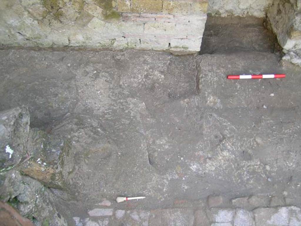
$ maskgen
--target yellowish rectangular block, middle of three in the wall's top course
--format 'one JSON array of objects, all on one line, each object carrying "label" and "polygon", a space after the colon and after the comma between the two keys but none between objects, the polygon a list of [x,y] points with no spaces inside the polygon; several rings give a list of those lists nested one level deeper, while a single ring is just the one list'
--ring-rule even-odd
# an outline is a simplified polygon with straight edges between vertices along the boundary
[{"label": "yellowish rectangular block, middle of three in the wall's top course", "polygon": [[132,11],[137,13],[160,13],[162,0],[132,0]]}]

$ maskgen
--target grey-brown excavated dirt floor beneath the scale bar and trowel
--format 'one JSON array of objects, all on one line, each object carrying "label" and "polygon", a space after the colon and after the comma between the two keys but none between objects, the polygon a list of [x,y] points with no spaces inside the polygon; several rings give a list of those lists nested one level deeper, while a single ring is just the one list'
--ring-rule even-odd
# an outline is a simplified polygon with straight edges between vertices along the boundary
[{"label": "grey-brown excavated dirt floor beneath the scale bar and trowel", "polygon": [[[52,190],[70,224],[104,198],[118,209],[196,206],[212,194],[300,206],[300,68],[280,64],[272,45],[208,44],[219,53],[198,56],[1,50],[0,110],[27,105],[31,127],[70,142],[68,189]],[[226,79],[261,73],[287,78]],[[147,198],[117,204],[120,195]]]}]

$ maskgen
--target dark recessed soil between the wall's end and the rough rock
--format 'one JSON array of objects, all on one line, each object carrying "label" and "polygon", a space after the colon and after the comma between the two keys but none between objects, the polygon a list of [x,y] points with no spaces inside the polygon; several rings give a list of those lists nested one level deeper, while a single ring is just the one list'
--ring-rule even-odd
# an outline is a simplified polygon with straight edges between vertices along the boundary
[{"label": "dark recessed soil between the wall's end and the rough rock", "polygon": [[208,16],[200,54],[240,51],[278,52],[277,37],[257,17]]}]

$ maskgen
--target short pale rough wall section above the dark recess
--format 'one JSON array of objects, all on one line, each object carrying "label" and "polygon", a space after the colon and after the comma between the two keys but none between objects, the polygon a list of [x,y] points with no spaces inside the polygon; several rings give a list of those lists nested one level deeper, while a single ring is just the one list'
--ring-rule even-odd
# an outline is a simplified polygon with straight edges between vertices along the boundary
[{"label": "short pale rough wall section above the dark recess", "polygon": [[208,12],[217,16],[265,17],[273,0],[209,0]]}]

